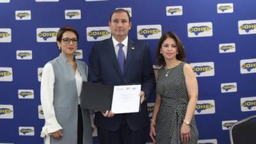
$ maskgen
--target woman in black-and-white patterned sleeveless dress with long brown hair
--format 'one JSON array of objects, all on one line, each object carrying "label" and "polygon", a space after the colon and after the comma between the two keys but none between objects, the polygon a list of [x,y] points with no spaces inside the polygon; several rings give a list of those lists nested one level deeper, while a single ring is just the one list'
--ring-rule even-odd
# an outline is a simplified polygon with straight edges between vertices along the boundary
[{"label": "woman in black-and-white patterned sleeveless dress with long brown hair", "polygon": [[194,112],[198,99],[196,76],[185,61],[182,43],[175,33],[161,36],[157,49],[156,104],[150,137],[157,144],[197,144]]}]

